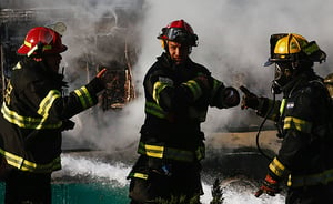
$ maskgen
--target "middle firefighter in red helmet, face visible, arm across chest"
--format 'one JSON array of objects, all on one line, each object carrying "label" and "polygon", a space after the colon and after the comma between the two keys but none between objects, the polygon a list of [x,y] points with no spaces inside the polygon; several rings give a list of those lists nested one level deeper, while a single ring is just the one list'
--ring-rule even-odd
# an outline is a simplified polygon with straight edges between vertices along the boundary
[{"label": "middle firefighter in red helmet, face visible, arm across chest", "polygon": [[240,103],[239,92],[213,78],[190,59],[198,35],[184,20],[175,20],[158,37],[164,52],[144,80],[145,120],[139,159],[129,174],[132,204],[184,198],[199,203],[203,194],[201,163],[208,106],[228,109]]}]

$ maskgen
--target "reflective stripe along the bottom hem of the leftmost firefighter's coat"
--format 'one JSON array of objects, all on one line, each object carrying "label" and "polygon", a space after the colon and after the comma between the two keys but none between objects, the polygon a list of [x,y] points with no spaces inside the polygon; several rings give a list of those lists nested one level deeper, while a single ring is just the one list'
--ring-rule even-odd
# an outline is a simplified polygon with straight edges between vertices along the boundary
[{"label": "reflective stripe along the bottom hem of the leftmost firefighter's coat", "polygon": [[9,165],[12,165],[21,171],[47,173],[61,169],[60,156],[56,157],[48,164],[37,164],[16,154],[6,152],[2,149],[0,149],[0,154],[4,156]]}]

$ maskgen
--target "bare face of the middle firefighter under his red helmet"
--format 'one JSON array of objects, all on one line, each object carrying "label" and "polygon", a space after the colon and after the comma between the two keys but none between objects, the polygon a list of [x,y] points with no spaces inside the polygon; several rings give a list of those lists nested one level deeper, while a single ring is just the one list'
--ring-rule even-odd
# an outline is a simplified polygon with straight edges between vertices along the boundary
[{"label": "bare face of the middle firefighter under his red helmet", "polygon": [[171,59],[175,62],[175,64],[183,63],[190,54],[190,48],[188,44],[169,41],[168,50]]}]

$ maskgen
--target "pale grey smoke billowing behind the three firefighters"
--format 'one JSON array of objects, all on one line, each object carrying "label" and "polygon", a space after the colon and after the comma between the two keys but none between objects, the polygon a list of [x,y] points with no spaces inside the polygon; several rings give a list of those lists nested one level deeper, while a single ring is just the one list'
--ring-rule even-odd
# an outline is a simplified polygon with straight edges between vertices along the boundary
[{"label": "pale grey smoke billowing behind the three firefighters", "polygon": [[[123,41],[135,55],[133,82],[137,99],[121,111],[103,112],[93,108],[74,116],[75,129],[65,133],[77,144],[92,144],[97,149],[113,150],[134,144],[144,120],[142,79],[145,71],[163,51],[157,35],[173,20],[184,19],[199,35],[199,45],[191,58],[209,68],[225,85],[248,86],[252,92],[269,95],[273,67],[263,68],[269,57],[269,39],[273,33],[295,32],[309,41],[315,40],[327,53],[323,64],[315,64],[321,75],[331,72],[333,55],[331,21],[333,1],[330,0],[44,0],[3,1],[19,8],[53,9],[42,13],[47,21],[63,21],[68,30],[63,43],[63,65],[69,91],[87,83],[94,74],[87,74],[87,63],[108,64],[120,61]],[[6,9],[4,6],[0,6]],[[125,8],[119,13],[119,8]],[[54,17],[54,18],[53,18]],[[122,19],[122,18],[125,18]],[[102,20],[101,20],[102,19]],[[27,32],[27,31],[26,31]],[[84,38],[83,38],[84,37]],[[97,40],[98,37],[101,37]],[[108,37],[114,37],[108,41]],[[84,40],[82,40],[82,38]],[[105,40],[101,40],[104,38]],[[89,59],[92,58],[93,59]],[[88,59],[88,60],[87,60]],[[82,64],[83,63],[83,64]],[[84,65],[85,63],[85,65]],[[94,114],[92,114],[92,112]],[[256,126],[261,120],[240,106],[230,110],[211,109],[203,130],[209,136],[216,131],[233,131]]]}]

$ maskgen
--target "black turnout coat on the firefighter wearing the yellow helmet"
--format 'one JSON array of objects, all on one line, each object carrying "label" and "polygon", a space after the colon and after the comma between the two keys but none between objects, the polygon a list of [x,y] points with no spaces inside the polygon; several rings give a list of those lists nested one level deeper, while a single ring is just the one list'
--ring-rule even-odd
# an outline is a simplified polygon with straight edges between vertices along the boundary
[{"label": "black turnout coat on the firefighter wearing the yellow helmet", "polygon": [[264,98],[258,113],[276,121],[283,142],[269,173],[286,177],[293,188],[333,182],[333,132],[330,95],[313,70],[301,73],[283,89],[283,99]]}]

